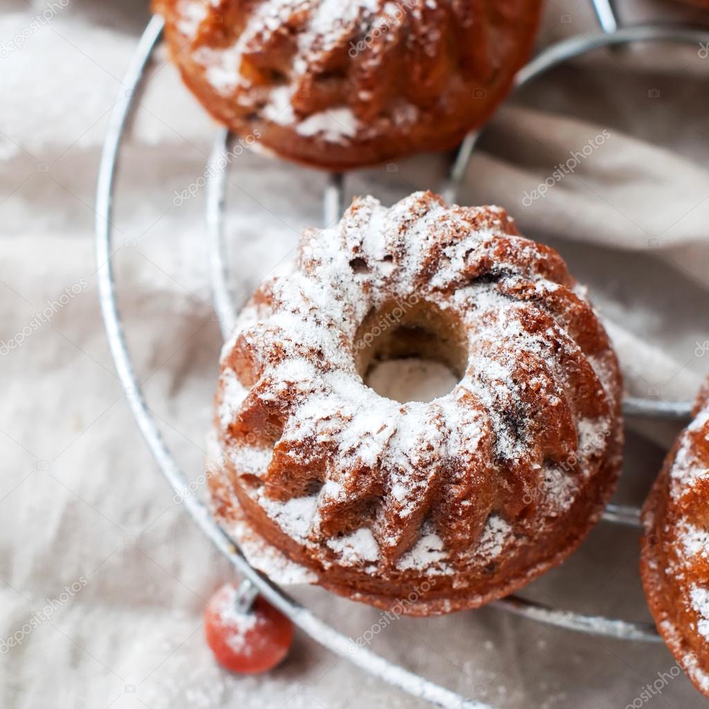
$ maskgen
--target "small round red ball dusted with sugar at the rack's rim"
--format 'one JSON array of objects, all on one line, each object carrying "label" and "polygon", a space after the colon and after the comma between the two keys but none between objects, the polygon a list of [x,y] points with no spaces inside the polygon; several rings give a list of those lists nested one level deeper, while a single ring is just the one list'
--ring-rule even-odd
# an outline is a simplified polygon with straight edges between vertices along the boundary
[{"label": "small round red ball dusted with sugar at the rack's rim", "polygon": [[242,612],[234,584],[224,584],[204,609],[204,632],[218,663],[242,674],[257,674],[286,657],[293,623],[262,596]]}]

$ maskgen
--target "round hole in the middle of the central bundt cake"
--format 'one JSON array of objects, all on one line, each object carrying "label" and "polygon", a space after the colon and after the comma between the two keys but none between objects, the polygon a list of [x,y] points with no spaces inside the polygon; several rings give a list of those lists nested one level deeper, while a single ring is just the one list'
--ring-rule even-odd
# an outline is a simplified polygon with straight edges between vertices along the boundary
[{"label": "round hole in the middle of the central bundt cake", "polygon": [[458,316],[417,296],[372,309],[357,330],[354,354],[364,383],[402,403],[445,396],[468,360]]}]

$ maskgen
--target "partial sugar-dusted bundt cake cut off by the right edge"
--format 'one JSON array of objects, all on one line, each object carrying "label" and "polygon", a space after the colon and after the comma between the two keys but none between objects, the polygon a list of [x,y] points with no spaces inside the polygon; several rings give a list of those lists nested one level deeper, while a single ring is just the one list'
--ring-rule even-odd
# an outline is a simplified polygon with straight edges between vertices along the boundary
[{"label": "partial sugar-dusted bundt cake cut off by the right edge", "polygon": [[709,696],[709,380],[642,510],[645,596],[667,647]]}]

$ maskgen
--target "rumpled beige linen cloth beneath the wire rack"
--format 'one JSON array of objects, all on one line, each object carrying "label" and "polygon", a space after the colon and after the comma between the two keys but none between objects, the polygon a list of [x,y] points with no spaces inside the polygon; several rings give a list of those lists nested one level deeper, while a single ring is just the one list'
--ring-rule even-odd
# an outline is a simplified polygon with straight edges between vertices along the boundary
[{"label": "rumpled beige linen cloth beneath the wire rack", "polygon": [[[669,1],[622,2],[621,12],[626,21],[702,17]],[[96,294],[99,149],[146,21],[137,0],[5,0],[0,15],[0,706],[423,707],[301,634],[289,659],[257,678],[220,671],[203,641],[205,599],[232,574],[147,452]],[[540,47],[593,31],[586,1],[552,1]],[[709,370],[706,55],[698,45],[647,46],[557,69],[498,113],[459,195],[506,206],[524,233],[562,252],[640,396],[691,398]],[[114,220],[121,308],[152,412],[196,477],[220,337],[203,190],[179,207],[173,197],[202,174],[213,126],[163,52],[139,100]],[[582,159],[557,180],[571,152]],[[347,191],[391,202],[437,186],[444,168],[441,156],[420,156],[356,174]],[[319,223],[323,182],[257,155],[235,161],[228,228],[241,301],[288,257],[303,225]],[[542,184],[545,195],[532,199]],[[642,501],[675,431],[629,423],[618,501]],[[354,637],[379,619],[318,588],[294,593]],[[637,532],[599,525],[524,593],[649,620]],[[584,637],[489,608],[398,620],[372,647],[510,709],[705,702],[671,673],[661,644]],[[643,696],[658,673],[659,691]]]}]

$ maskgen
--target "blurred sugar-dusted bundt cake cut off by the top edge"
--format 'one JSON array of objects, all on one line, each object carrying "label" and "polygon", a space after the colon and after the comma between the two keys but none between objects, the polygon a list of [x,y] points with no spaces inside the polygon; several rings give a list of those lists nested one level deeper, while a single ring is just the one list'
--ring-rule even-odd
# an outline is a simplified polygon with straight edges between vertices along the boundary
[{"label": "blurred sugar-dusted bundt cake cut off by the top edge", "polygon": [[453,147],[506,96],[541,0],[154,0],[220,123],[330,169]]}]

